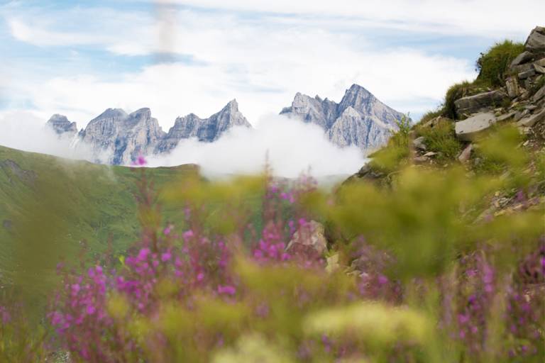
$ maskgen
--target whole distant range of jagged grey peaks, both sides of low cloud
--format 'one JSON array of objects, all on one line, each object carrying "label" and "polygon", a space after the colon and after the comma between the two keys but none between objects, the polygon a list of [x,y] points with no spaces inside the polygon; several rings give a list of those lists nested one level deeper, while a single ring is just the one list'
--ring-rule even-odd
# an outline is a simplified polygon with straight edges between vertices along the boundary
[{"label": "whole distant range of jagged grey peaks, both sides of low cloud", "polygon": [[[319,125],[332,143],[339,147],[356,145],[363,151],[385,145],[403,117],[357,84],[346,91],[339,104],[297,93],[292,106],[283,108],[280,115]],[[168,133],[151,116],[149,108],[133,113],[108,108],[79,133],[77,124],[66,116],[55,114],[47,125],[63,138],[74,138],[75,145],[89,145],[95,161],[116,165],[131,164],[140,155],[170,152],[182,139],[212,143],[235,126],[251,128],[234,99],[209,118],[194,113],[176,118]]]}]

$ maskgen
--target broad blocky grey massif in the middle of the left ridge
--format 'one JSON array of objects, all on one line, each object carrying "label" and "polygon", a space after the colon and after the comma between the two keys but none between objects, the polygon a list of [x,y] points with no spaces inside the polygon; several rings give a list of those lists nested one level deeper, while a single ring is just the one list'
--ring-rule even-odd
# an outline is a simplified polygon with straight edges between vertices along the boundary
[{"label": "broad blocky grey massif in the middle of the left ridge", "polygon": [[[110,164],[131,164],[140,155],[149,155],[165,133],[149,108],[127,114],[119,108],[108,108],[94,118],[79,134],[92,146],[98,161]],[[110,155],[101,160],[101,155]]]}]

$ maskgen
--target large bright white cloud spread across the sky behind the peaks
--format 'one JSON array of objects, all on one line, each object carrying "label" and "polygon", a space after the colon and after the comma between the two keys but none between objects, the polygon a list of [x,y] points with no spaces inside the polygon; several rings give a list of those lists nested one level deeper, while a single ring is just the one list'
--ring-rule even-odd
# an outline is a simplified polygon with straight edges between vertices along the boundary
[{"label": "large bright white cloud spread across the sky behind the peaks", "polygon": [[[173,27],[176,36],[161,40],[157,47],[194,55],[197,64],[150,65],[116,74],[115,79],[94,74],[60,75],[38,84],[22,79],[11,84],[13,93],[28,95],[41,117],[63,113],[79,127],[108,107],[131,111],[147,106],[167,129],[177,116],[193,112],[207,117],[233,98],[257,124],[263,114],[289,106],[297,91],[340,101],[353,83],[398,111],[422,113],[439,103],[453,82],[475,75],[467,60],[411,48],[376,48],[349,31],[306,23],[240,22],[224,13],[168,14],[161,19],[171,22],[159,28]],[[150,28],[142,33],[148,23],[132,25],[138,28],[137,37],[121,32],[104,46],[129,54],[150,52],[151,40],[161,32]]]}]

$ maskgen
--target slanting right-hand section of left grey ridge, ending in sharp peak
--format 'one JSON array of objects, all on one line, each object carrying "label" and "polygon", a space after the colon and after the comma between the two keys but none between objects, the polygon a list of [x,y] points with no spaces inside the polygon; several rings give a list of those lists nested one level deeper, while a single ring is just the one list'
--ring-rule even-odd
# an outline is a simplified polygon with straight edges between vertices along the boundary
[{"label": "slanting right-hand section of left grey ridge, ending in sharp peak", "polygon": [[248,120],[238,111],[236,100],[229,102],[221,111],[209,118],[199,118],[194,113],[176,118],[174,126],[170,128],[165,138],[156,147],[156,152],[172,150],[182,139],[197,138],[205,143],[218,140],[227,130],[234,126],[251,128]]}]

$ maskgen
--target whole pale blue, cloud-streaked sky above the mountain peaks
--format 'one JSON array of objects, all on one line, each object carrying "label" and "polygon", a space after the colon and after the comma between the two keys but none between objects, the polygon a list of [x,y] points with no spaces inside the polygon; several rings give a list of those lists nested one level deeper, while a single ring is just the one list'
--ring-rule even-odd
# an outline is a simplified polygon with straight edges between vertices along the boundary
[{"label": "whole pale blue, cloud-streaked sky above the mountain peaks", "polygon": [[258,125],[297,91],[338,101],[353,83],[418,118],[543,21],[545,1],[501,2],[0,1],[0,119],[150,107],[168,128],[236,98]]}]

